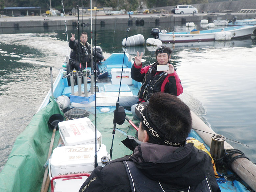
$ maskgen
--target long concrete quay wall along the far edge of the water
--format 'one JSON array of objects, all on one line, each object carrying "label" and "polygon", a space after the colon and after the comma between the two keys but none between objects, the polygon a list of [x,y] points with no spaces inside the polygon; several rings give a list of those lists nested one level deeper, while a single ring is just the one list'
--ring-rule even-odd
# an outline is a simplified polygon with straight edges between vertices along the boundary
[{"label": "long concrete quay wall along the far edge of the water", "polygon": [[[196,22],[202,19],[211,20],[231,20],[237,16],[238,19],[249,19],[256,17],[256,13],[197,13],[197,14],[138,14],[132,15],[130,22],[136,24],[136,22],[143,20],[146,23],[155,23],[156,25],[161,22]],[[97,16],[97,24],[128,24],[129,15],[101,15]],[[84,16],[83,22],[90,24],[90,16]],[[80,20],[80,24],[82,21]],[[95,18],[92,19],[92,23],[95,23]],[[130,23],[130,24],[131,24]],[[66,16],[67,26],[77,25],[77,17]],[[41,17],[41,16],[25,16],[25,17],[5,17],[0,18],[0,28],[25,28],[25,27],[55,27],[64,26],[64,17]]]}]

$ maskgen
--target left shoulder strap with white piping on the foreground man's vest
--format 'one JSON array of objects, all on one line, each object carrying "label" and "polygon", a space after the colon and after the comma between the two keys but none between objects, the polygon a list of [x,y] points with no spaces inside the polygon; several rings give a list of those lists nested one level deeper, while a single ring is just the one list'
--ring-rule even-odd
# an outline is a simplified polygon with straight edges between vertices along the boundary
[{"label": "left shoulder strap with white piping on the foreground man's vest", "polygon": [[123,161],[123,164],[130,180],[132,192],[164,192],[161,184],[158,181],[149,179],[143,173],[141,173],[133,161]]}]

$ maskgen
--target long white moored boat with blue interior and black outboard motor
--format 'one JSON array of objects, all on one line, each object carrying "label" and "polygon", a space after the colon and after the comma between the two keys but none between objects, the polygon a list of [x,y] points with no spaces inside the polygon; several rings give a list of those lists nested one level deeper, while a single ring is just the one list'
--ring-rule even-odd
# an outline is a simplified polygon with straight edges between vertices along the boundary
[{"label": "long white moored boat with blue interior and black outboard motor", "polygon": [[164,43],[200,42],[231,40],[256,34],[256,25],[234,26],[202,31],[160,32],[159,39]]}]

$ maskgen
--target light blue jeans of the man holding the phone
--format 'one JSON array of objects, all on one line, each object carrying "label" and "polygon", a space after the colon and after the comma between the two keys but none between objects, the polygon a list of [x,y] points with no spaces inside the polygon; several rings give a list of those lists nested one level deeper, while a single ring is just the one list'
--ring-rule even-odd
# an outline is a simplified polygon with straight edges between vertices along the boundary
[{"label": "light blue jeans of the man holding the phone", "polygon": [[131,111],[133,116],[135,116],[137,119],[141,119],[141,117],[138,117],[135,113],[135,108],[138,105],[138,101],[138,96],[120,97],[119,106],[122,106],[126,110]]}]

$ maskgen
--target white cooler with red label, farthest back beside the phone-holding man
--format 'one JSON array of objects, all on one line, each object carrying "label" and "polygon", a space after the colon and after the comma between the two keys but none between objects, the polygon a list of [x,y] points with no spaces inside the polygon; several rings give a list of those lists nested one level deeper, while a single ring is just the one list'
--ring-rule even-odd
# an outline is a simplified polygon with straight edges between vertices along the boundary
[{"label": "white cooler with red label, farthest back beside the phone-holding man", "polygon": [[[122,69],[111,69],[112,84],[120,84],[121,72],[122,72]],[[128,84],[128,85],[132,84],[130,68],[123,69],[122,84]]]}]

